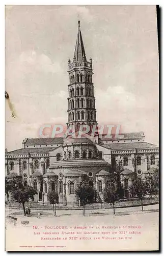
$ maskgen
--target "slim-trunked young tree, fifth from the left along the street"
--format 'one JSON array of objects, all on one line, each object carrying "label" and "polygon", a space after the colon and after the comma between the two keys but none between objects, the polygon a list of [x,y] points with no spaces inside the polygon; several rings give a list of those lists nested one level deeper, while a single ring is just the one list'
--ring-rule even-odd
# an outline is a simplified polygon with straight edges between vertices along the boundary
[{"label": "slim-trunked young tree, fifth from the left along the street", "polygon": [[142,211],[143,209],[143,198],[147,195],[147,184],[145,181],[136,178],[132,186],[130,187],[130,191],[134,196],[137,196],[141,200]]}]

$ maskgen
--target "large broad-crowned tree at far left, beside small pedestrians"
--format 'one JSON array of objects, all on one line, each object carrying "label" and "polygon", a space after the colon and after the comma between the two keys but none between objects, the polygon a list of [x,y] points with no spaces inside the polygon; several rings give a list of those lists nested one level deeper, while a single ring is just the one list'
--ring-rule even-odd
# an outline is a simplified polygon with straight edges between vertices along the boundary
[{"label": "large broad-crowned tree at far left, beside small pedestrians", "polygon": [[34,201],[34,196],[37,195],[37,191],[31,186],[23,186],[20,179],[12,180],[10,183],[10,193],[12,198],[18,202],[22,203],[24,215],[25,214],[25,202],[29,202],[29,199]]}]

